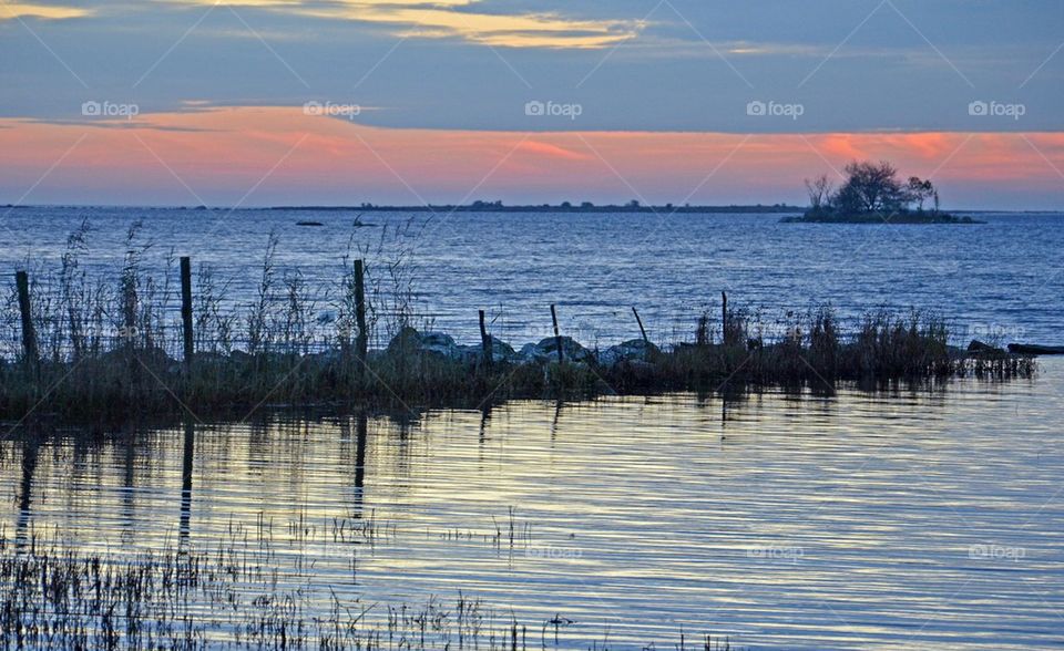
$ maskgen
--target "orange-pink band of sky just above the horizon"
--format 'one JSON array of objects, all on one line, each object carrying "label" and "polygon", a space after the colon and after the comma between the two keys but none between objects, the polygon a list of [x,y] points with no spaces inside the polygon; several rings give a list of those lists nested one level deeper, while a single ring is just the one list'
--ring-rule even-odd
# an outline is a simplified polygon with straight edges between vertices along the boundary
[{"label": "orange-pink band of sky just above the horizon", "polygon": [[857,158],[932,177],[948,205],[994,192],[1064,205],[1062,133],[442,131],[370,127],[301,107],[0,120],[0,192],[14,202],[33,188],[25,203],[775,203],[800,200],[804,178]]}]

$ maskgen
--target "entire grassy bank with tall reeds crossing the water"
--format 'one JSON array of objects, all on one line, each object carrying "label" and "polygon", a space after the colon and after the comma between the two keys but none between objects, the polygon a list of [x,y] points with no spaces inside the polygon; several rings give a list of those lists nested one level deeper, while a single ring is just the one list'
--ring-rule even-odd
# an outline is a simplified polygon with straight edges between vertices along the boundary
[{"label": "entire grassy bank with tall reeds crossing the water", "polygon": [[[339,281],[325,290],[278,265],[278,239],[270,235],[245,306],[226,297],[229,283],[214,269],[201,266],[193,292],[196,353],[180,360],[173,254],[163,251],[160,273],[149,273],[153,242],[143,241],[133,225],[116,277],[93,278],[81,262],[91,232],[85,223],[71,235],[58,272],[31,270],[39,360],[21,353],[13,286],[0,312],[8,351],[0,358],[0,418],[115,421],[326,403],[481,405],[510,397],[705,391],[725,383],[833,391],[840,381],[1010,379],[1035,371],[1029,356],[951,348],[948,324],[934,314],[876,312],[843,333],[829,307],[775,322],[732,307],[719,330],[704,314],[692,324],[693,341],[664,349],[626,342],[608,361],[603,351],[567,340],[562,362],[556,354],[503,354],[489,364],[479,347],[441,352],[423,345],[412,330],[430,328],[415,310],[409,242],[417,234],[409,223],[386,231],[375,245],[352,239]],[[361,333],[355,257],[379,260],[366,271]],[[356,353],[359,337],[372,343],[365,361]],[[553,345],[553,338],[539,344],[548,352]]]}]

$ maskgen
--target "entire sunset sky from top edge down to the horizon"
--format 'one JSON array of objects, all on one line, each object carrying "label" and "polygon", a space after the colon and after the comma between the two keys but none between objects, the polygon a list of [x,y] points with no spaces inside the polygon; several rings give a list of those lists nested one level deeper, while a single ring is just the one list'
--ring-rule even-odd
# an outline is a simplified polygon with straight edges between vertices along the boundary
[{"label": "entire sunset sky from top edge down to the horizon", "polygon": [[0,204],[1064,209],[1056,0],[0,0]]}]

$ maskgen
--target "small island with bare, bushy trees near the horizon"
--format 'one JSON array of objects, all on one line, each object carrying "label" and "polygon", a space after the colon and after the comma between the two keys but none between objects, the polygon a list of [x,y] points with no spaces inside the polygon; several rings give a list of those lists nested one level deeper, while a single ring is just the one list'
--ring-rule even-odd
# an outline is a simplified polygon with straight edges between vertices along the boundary
[{"label": "small island with bare, bushy trees near the horizon", "polygon": [[[809,224],[982,224],[971,217],[958,217],[939,209],[939,190],[929,179],[910,176],[901,180],[898,168],[887,161],[853,162],[846,166],[846,178],[836,189],[821,175],[806,179],[809,208],[786,223]],[[924,204],[931,207],[924,209]]]}]

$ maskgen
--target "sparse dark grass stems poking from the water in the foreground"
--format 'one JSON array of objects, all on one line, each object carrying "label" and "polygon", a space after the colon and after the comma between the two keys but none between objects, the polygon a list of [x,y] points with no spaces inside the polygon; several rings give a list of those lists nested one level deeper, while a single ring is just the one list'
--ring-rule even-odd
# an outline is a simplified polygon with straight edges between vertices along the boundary
[{"label": "sparse dark grass stems poking from the water in the foreground", "polygon": [[[359,545],[380,534],[364,520],[231,523],[208,548],[80,551],[58,528],[10,538],[0,530],[0,648],[200,650],[521,650],[573,648],[571,620],[519,622],[458,591],[420,603],[365,601]],[[308,546],[330,545],[349,570],[317,574]],[[583,631],[586,634],[586,630]],[[709,636],[677,649],[727,651]],[[668,644],[672,647],[672,644]],[[608,636],[589,648],[607,650]],[[654,648],[649,645],[647,648]]]}]

